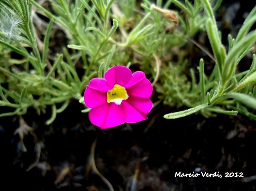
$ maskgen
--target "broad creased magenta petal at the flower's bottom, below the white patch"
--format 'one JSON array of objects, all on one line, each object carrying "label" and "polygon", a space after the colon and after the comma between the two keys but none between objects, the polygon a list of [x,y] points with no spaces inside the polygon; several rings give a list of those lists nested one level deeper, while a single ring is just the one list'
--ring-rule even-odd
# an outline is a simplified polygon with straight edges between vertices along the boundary
[{"label": "broad creased magenta petal at the flower's bottom, below the white patch", "polygon": [[111,128],[125,122],[123,108],[115,103],[106,103],[92,108],[89,112],[89,119],[101,129]]}]

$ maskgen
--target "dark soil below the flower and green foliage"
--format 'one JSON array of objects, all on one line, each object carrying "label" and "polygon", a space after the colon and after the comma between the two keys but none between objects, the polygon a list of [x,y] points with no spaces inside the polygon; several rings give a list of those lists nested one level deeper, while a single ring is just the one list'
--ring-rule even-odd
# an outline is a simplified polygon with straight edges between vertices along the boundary
[{"label": "dark soil below the flower and green foliage", "polygon": [[[177,120],[157,117],[153,125],[147,120],[101,130],[89,125],[79,109],[81,106],[74,102],[52,126],[36,126],[38,141],[31,135],[24,138],[27,152],[21,151],[18,136],[13,136],[18,120],[6,119],[0,131],[1,187],[41,191],[108,190],[89,165],[92,142],[97,138],[96,167],[114,190],[255,189],[253,120],[226,115],[208,119],[192,115]],[[155,108],[149,119],[154,119],[152,115],[157,111]],[[71,112],[73,115],[69,116]],[[33,113],[28,113],[26,118],[31,126],[41,120]],[[41,145],[40,160],[26,171],[35,161],[37,143]],[[133,180],[136,170],[138,177]],[[200,175],[175,177],[179,172]],[[203,177],[201,172],[216,172],[222,177]],[[235,177],[232,172],[243,177]],[[225,177],[226,173],[233,177]],[[136,189],[130,188],[132,183]]]}]

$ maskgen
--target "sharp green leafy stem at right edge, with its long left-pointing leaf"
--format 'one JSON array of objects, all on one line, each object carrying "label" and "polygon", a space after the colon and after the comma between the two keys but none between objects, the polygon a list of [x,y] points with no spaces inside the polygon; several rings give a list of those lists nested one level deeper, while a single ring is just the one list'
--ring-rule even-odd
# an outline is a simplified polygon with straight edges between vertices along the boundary
[{"label": "sharp green leafy stem at right edge, with its long left-pointing leaf", "polygon": [[[216,59],[215,68],[217,68],[217,70],[213,70],[211,74],[211,76],[215,77],[211,78],[210,76],[208,79],[207,76],[206,78],[204,77],[203,61],[201,60],[199,72],[201,101],[203,102],[194,103],[197,106],[181,112],[169,113],[164,117],[174,119],[201,111],[206,117],[211,116],[212,112],[227,115],[236,115],[236,113],[240,112],[256,119],[255,115],[250,113],[246,108],[251,107],[256,109],[256,97],[254,94],[256,56],[253,55],[253,63],[248,71],[238,74],[235,72],[240,60],[251,51],[252,45],[256,42],[256,30],[248,32],[256,21],[256,7],[253,8],[244,21],[236,39],[232,39],[232,37],[229,36],[229,48],[227,52],[224,45],[221,44],[220,32],[218,31],[210,2],[208,0],[201,0],[201,3],[208,17],[205,26]],[[209,86],[213,81],[215,81],[216,84]],[[203,88],[207,86],[210,88]],[[230,100],[230,98],[232,100]],[[224,110],[223,106],[232,108],[233,110]]]}]

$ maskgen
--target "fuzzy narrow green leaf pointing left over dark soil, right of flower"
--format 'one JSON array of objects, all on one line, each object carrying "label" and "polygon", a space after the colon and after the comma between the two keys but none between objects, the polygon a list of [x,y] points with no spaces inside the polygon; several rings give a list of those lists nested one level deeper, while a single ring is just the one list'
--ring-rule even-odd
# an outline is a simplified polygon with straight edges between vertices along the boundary
[{"label": "fuzzy narrow green leaf pointing left over dark soil, right of flower", "polygon": [[187,110],[180,111],[180,112],[165,114],[164,118],[165,119],[177,119],[177,118],[185,117],[187,115],[191,115],[192,113],[198,112],[201,109],[206,108],[206,107],[208,107],[208,104],[201,104],[196,107],[192,107]]}]

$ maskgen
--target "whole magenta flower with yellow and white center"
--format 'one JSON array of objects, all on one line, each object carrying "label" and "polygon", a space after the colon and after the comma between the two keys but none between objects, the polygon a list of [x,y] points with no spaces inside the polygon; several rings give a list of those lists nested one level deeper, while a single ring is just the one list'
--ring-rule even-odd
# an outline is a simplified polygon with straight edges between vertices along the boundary
[{"label": "whole magenta flower with yellow and white center", "polygon": [[152,109],[152,84],[142,71],[132,74],[125,66],[114,66],[104,78],[93,78],[84,91],[84,102],[92,108],[92,124],[107,129],[147,119]]}]

